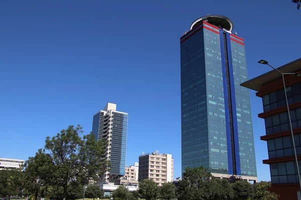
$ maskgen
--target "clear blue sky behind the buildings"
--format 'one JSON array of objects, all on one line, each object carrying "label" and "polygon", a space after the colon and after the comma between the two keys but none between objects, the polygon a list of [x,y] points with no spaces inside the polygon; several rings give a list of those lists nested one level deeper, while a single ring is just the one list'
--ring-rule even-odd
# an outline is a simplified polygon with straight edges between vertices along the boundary
[{"label": "clear blue sky behind the buildings", "polygon": [[[114,102],[128,112],[127,165],[171,153],[181,175],[180,37],[206,14],[223,14],[245,39],[249,78],[300,57],[290,0],[2,0],[0,157],[27,159],[69,124],[91,131]],[[259,180],[269,180],[261,99],[250,92]]]}]

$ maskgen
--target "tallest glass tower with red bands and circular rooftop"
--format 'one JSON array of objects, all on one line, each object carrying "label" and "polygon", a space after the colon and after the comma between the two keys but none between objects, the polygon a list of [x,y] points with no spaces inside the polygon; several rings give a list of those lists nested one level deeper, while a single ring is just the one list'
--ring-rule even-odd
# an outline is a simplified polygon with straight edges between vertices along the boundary
[{"label": "tallest glass tower with red bands and circular rooftop", "polygon": [[182,172],[257,180],[244,39],[222,15],[195,20],[181,43]]}]

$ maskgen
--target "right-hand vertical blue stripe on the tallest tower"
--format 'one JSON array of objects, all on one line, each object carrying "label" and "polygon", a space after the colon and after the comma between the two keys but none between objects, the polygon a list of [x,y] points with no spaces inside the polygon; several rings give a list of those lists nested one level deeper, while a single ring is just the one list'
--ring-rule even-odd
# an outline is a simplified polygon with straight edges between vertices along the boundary
[{"label": "right-hand vertical blue stripe on the tallest tower", "polygon": [[239,145],[238,145],[238,128],[237,128],[237,116],[236,116],[236,101],[234,91],[234,74],[232,64],[232,52],[231,52],[231,40],[230,33],[226,32],[227,40],[227,53],[228,53],[228,66],[229,66],[229,78],[230,78],[230,90],[231,90],[231,105],[232,105],[232,119],[233,119],[233,133],[234,133],[234,154],[235,154],[235,167],[236,175],[241,175],[240,171],[240,158],[239,158]]}]

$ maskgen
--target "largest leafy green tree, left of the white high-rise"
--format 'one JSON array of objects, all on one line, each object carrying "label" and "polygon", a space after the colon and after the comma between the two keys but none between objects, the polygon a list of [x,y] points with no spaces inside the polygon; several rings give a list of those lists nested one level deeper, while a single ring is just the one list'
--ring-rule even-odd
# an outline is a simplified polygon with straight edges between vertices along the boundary
[{"label": "largest leafy green tree, left of the white high-rise", "polygon": [[105,159],[105,142],[97,142],[92,133],[81,134],[80,125],[69,125],[56,136],[46,138],[45,152],[52,158],[52,173],[47,174],[45,180],[52,186],[63,188],[63,199],[66,199],[68,187],[75,179],[86,184],[88,177],[98,180],[98,173],[102,174],[108,167]]}]

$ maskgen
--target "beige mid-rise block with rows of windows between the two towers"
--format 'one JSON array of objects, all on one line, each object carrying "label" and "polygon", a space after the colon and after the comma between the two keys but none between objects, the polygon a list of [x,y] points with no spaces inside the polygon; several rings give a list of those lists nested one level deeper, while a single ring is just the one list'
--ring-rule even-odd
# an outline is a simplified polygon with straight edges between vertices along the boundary
[{"label": "beige mid-rise block with rows of windows between the two towers", "polygon": [[159,186],[174,179],[174,158],[159,151],[139,156],[138,180],[153,179]]}]

